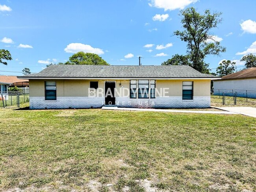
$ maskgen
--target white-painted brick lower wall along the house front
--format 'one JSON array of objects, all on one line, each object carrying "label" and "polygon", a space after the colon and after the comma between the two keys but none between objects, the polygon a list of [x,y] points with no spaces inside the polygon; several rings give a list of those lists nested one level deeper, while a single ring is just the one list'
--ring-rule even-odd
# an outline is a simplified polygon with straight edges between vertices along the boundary
[{"label": "white-painted brick lower wall along the house front", "polygon": [[[47,101],[45,97],[30,97],[30,109],[68,109],[99,108],[104,105],[104,97],[57,97],[56,101]],[[207,108],[210,97],[193,97],[193,100],[182,100],[182,97],[157,97],[154,99],[131,99],[117,97],[118,107],[137,108]]]}]

